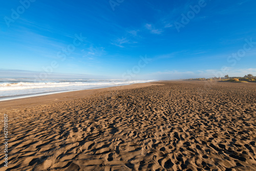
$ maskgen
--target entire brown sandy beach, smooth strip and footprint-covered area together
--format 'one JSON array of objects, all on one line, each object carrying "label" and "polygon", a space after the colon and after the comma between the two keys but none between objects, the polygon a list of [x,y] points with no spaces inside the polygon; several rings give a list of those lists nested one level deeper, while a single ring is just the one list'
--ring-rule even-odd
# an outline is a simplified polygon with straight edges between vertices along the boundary
[{"label": "entire brown sandy beach, smooth strip and footprint-covered area together", "polygon": [[256,170],[255,83],[136,86],[0,102],[0,169]]}]

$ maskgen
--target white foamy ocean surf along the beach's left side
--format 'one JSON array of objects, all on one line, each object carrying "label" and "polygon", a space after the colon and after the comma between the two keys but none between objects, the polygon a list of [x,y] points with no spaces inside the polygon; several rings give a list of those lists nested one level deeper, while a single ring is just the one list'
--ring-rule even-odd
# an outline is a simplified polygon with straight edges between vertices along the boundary
[{"label": "white foamy ocean surf along the beach's left side", "polygon": [[0,101],[151,81],[155,80],[0,78]]}]

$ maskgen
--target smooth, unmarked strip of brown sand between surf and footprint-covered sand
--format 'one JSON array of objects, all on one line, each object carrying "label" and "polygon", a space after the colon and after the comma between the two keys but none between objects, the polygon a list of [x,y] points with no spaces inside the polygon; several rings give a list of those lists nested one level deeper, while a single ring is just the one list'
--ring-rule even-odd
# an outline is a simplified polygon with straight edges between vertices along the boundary
[{"label": "smooth, unmarked strip of brown sand between surf and footprint-covered sand", "polygon": [[95,88],[86,90],[74,90],[68,92],[59,92],[46,95],[37,95],[31,97],[22,97],[16,99],[2,100],[0,101],[0,112],[4,110],[21,109],[23,107],[30,107],[35,105],[44,105],[50,103],[56,103],[60,101],[74,100],[78,98],[88,97],[90,95],[111,91],[111,90],[123,90],[123,89],[135,89],[141,87],[147,87],[152,85],[157,85],[159,81],[144,82],[144,83],[134,83],[125,86],[113,86],[105,88]]}]

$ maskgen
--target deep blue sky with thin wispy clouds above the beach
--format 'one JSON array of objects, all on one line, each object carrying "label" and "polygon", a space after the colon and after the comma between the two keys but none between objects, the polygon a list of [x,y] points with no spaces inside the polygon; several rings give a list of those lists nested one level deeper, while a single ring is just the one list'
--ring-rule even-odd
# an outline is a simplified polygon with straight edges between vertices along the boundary
[{"label": "deep blue sky with thin wispy clouds above the beach", "polygon": [[256,75],[255,7],[253,0],[4,1],[0,69],[132,79]]}]

